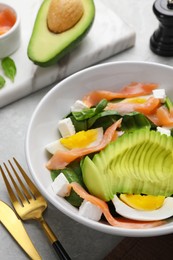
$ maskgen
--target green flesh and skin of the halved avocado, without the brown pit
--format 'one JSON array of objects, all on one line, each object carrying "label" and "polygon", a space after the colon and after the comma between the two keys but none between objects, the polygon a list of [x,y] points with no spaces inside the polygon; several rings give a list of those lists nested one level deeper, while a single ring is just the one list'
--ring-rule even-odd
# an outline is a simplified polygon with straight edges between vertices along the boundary
[{"label": "green flesh and skin of the halved avocado, without the brown pit", "polygon": [[81,1],[84,7],[81,19],[71,29],[58,34],[52,33],[47,27],[51,0],[42,3],[27,49],[29,59],[35,64],[47,67],[57,63],[86,36],[94,21],[95,6],[93,0]]}]

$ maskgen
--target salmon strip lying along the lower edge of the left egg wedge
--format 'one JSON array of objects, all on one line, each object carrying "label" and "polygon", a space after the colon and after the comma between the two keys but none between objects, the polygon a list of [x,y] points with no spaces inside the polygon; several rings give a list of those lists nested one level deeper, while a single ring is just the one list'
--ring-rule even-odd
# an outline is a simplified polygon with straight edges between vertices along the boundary
[{"label": "salmon strip lying along the lower edge of the left egg wedge", "polygon": [[100,144],[94,147],[88,148],[76,148],[69,151],[57,151],[48,161],[46,167],[48,170],[55,169],[64,169],[70,162],[74,161],[77,158],[80,158],[84,155],[98,152],[105,148],[112,140],[115,140],[116,136],[115,131],[121,125],[122,119],[119,119],[110,127],[108,127],[103,135],[103,139]]}]

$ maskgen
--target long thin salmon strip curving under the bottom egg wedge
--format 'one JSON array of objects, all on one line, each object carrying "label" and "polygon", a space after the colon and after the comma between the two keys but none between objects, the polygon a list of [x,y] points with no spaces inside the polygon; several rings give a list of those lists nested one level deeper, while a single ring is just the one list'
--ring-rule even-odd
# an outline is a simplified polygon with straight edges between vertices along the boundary
[{"label": "long thin salmon strip curving under the bottom egg wedge", "polygon": [[107,203],[91,194],[89,194],[84,188],[77,182],[72,182],[69,184],[71,188],[83,199],[91,202],[95,206],[99,207],[107,219],[108,223],[111,226],[121,227],[121,228],[129,228],[129,229],[144,229],[144,228],[153,228],[156,226],[163,225],[165,221],[135,221],[126,218],[114,218],[110,211]]}]

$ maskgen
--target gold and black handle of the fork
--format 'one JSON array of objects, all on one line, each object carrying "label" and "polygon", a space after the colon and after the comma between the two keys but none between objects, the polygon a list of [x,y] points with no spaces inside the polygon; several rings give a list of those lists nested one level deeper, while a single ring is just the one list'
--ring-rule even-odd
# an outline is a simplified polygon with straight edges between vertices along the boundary
[{"label": "gold and black handle of the fork", "polygon": [[49,227],[49,225],[44,220],[44,218],[42,217],[41,219],[39,219],[39,221],[40,221],[40,223],[41,223],[41,225],[43,227],[43,230],[46,233],[49,241],[51,242],[55,252],[59,256],[59,259],[60,260],[71,260],[70,256],[67,254],[66,250],[61,245],[60,241],[57,239],[57,237],[55,236],[54,232]]}]

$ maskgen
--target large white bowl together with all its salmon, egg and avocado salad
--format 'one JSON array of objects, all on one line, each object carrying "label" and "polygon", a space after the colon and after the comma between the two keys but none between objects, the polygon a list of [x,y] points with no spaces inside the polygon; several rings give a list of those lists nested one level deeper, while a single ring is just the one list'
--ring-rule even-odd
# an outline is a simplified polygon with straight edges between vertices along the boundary
[{"label": "large white bowl together with all its salmon, egg and avocado salad", "polygon": [[43,98],[28,129],[27,159],[58,209],[111,234],[169,233],[171,70],[152,63],[103,64],[67,78]]}]

